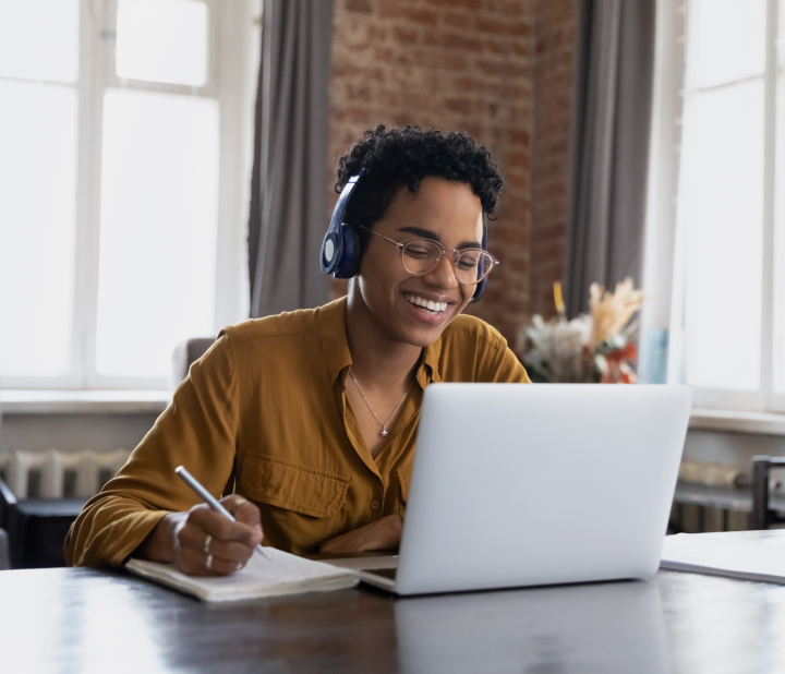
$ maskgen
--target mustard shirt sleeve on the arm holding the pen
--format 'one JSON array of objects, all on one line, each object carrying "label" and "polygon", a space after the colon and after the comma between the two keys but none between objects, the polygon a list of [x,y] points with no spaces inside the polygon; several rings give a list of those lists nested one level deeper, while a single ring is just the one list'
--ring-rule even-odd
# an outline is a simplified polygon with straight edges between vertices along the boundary
[{"label": "mustard shirt sleeve on the arm holding the pen", "polygon": [[65,539],[68,564],[119,566],[164,516],[198,503],[177,479],[178,466],[220,496],[232,476],[237,433],[237,364],[231,339],[221,334],[128,464],[87,502]]}]

